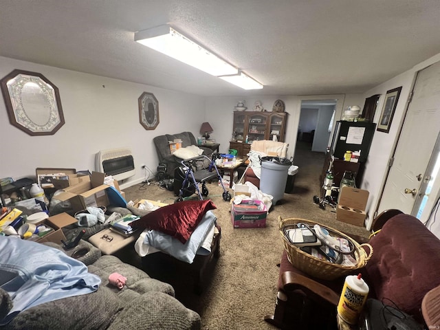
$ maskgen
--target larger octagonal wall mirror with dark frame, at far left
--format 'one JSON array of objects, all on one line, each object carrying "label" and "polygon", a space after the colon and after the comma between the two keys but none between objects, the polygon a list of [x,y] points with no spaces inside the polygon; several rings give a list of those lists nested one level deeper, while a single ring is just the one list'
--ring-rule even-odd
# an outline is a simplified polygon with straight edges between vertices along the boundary
[{"label": "larger octagonal wall mirror with dark frame, at far left", "polygon": [[0,80],[12,125],[29,135],[53,135],[64,124],[58,88],[36,72],[15,69]]}]

